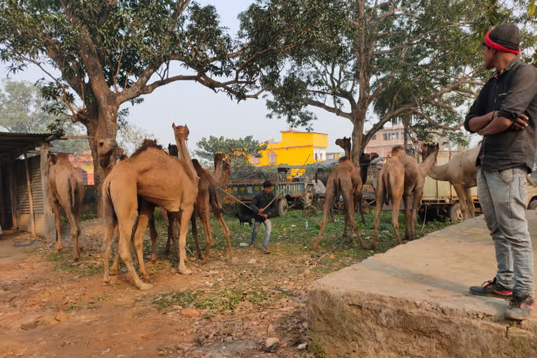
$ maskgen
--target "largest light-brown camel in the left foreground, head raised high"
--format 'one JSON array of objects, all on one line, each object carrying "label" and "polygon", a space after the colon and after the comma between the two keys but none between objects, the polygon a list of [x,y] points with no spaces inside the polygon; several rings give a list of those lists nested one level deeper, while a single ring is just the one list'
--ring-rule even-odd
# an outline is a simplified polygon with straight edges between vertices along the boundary
[{"label": "largest light-brown camel in the left foreground, head raised high", "polygon": [[[134,247],[138,256],[140,272],[148,276],[143,262],[143,233],[155,206],[164,208],[169,219],[179,217],[179,243],[173,244],[179,256],[179,272],[192,273],[185,265],[185,247],[188,222],[194,210],[198,194],[198,178],[185,142],[189,130],[187,126],[176,127],[173,131],[182,159],[170,157],[159,145],[145,145],[131,157],[118,163],[103,183],[103,206],[106,219],[106,235],[103,242],[104,282],[110,281],[109,258],[113,231],[119,226],[119,252],[129,269],[138,289],[150,289],[152,285],[142,282],[134,270],[130,255],[131,236],[134,224]],[[141,200],[138,207],[139,198]],[[139,210],[139,213],[138,213]],[[138,216],[138,218],[136,218]]]}]

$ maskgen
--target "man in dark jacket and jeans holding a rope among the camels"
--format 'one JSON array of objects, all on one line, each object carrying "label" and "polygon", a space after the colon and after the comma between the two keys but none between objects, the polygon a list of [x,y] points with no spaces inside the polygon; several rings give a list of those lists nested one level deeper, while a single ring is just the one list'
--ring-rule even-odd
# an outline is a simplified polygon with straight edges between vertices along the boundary
[{"label": "man in dark jacket and jeans holding a rope among the camels", "polygon": [[[272,183],[268,180],[265,180],[263,182],[263,190],[255,194],[252,199],[252,202],[250,203],[250,208],[254,212],[254,229],[252,230],[252,241],[250,241],[250,247],[253,247],[255,243],[255,237],[257,236],[257,230],[259,229],[259,225],[263,223],[265,225],[265,240],[263,241],[262,253],[264,254],[271,253],[267,249],[268,241],[271,240],[272,230],[272,223],[271,220],[268,218],[268,215],[273,215],[275,211],[276,201],[273,200],[274,198],[275,195],[272,192]],[[271,203],[271,205],[268,206],[268,203]],[[268,206],[268,208],[265,209],[266,206]]]}]

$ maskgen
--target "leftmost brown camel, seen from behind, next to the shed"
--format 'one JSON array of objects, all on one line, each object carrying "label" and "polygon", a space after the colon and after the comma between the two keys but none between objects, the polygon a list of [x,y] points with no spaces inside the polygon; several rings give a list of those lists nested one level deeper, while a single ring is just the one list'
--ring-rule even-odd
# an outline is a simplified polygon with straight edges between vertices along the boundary
[{"label": "leftmost brown camel, seen from behind, next to the shed", "polygon": [[62,251],[62,221],[59,218],[59,206],[64,208],[71,226],[73,236],[73,260],[80,258],[83,245],[78,241],[80,236],[80,215],[84,199],[84,182],[82,176],[69,162],[69,156],[64,153],[52,155],[48,153],[47,196],[52,211],[56,217],[56,252]]}]

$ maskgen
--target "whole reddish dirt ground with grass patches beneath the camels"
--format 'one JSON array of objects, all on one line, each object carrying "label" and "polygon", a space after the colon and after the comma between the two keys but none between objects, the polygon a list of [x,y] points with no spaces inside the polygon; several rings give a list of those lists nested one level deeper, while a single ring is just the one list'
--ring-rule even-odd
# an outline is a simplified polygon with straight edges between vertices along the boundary
[{"label": "whole reddish dirt ground with grass patches beneath the camels", "polygon": [[[271,255],[244,248],[251,228],[226,218],[238,264],[231,264],[222,230],[212,220],[215,236],[210,262],[188,255],[194,273],[177,273],[175,255],[164,255],[166,227],[157,220],[159,262],[148,264],[152,283],[139,291],[124,266],[110,285],[102,282],[101,219],[80,222],[85,251],[73,263],[69,224],[64,224],[64,250],[43,240],[15,247],[35,237],[0,236],[0,358],[5,357],[325,357],[319,343],[308,338],[307,287],[329,272],[373,255],[341,238],[343,217],[328,224],[319,255],[310,245],[320,217],[292,211],[275,218]],[[403,217],[400,218],[402,227]],[[308,226],[309,220],[309,226]],[[391,213],[381,220],[380,252],[396,241]],[[373,214],[361,224],[371,236]],[[422,236],[449,223],[432,222],[418,229]],[[201,225],[199,225],[201,227]],[[201,234],[203,240],[203,234]],[[144,241],[145,262],[150,245]],[[187,244],[193,250],[192,237]],[[205,243],[202,243],[204,248]],[[275,352],[264,352],[267,338],[278,338]],[[305,344],[306,343],[306,344]]]}]

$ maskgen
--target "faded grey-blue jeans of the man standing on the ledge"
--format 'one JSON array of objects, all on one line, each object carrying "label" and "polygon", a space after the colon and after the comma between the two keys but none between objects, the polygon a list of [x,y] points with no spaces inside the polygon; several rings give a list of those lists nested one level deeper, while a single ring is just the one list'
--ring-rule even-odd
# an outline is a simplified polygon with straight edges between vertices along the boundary
[{"label": "faded grey-blue jeans of the man standing on the ledge", "polygon": [[525,167],[478,169],[478,195],[496,249],[496,280],[517,294],[534,293],[534,254],[526,221]]}]

